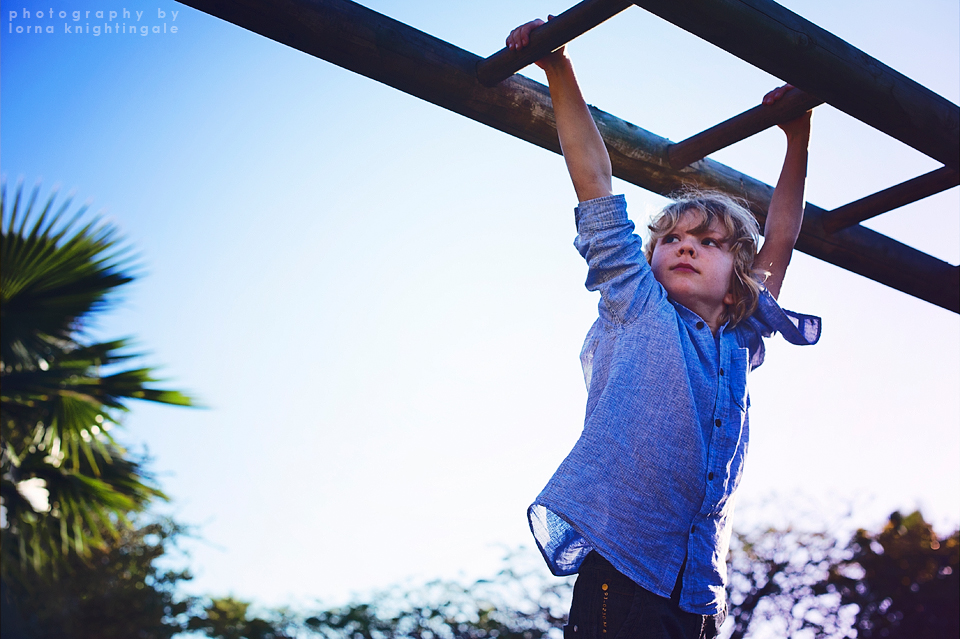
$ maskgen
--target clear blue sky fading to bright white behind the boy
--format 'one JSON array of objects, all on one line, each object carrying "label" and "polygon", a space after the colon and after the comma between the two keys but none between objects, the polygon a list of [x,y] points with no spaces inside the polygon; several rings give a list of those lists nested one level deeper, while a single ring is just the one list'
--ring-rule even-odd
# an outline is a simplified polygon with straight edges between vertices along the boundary
[{"label": "clear blue sky fading to bright white behind the boy", "polygon": [[[786,4],[958,101],[954,0]],[[142,256],[97,331],[135,335],[207,406],[137,405],[120,435],[205,540],[191,590],[339,601],[490,574],[503,546],[530,544],[525,508],[582,423],[597,299],[561,158],[170,0],[135,6],[119,21],[143,11],[167,33],[63,33],[114,0],[2,2],[0,168],[8,187],[92,199]],[[480,55],[566,8],[368,6]],[[38,21],[55,33],[11,31]],[[674,140],[778,83],[638,8],[572,55],[589,102]],[[784,146],[773,130],[714,157],[772,183]],[[936,166],[821,107],[808,199],[831,208]],[[616,188],[640,222],[663,202]],[[957,264],[957,191],[869,226]],[[852,504],[867,527],[917,506],[956,526],[958,316],[802,254],[781,301],[824,334],[772,341],[751,378],[741,521],[812,503]]]}]

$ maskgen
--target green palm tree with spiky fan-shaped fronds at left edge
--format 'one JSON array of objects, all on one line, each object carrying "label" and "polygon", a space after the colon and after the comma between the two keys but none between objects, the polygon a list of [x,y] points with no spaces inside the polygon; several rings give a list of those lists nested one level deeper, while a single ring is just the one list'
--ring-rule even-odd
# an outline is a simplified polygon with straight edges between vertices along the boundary
[{"label": "green palm tree with spiky fan-shaped fronds at left edge", "polygon": [[[0,186],[0,495],[2,576],[55,575],[70,554],[84,557],[128,515],[165,499],[112,437],[129,400],[180,406],[159,390],[127,340],[94,342],[85,327],[133,280],[117,229],[84,222],[86,207],[37,205],[39,185],[13,203]],[[8,206],[9,204],[9,206]],[[39,211],[35,211],[39,209]]]}]

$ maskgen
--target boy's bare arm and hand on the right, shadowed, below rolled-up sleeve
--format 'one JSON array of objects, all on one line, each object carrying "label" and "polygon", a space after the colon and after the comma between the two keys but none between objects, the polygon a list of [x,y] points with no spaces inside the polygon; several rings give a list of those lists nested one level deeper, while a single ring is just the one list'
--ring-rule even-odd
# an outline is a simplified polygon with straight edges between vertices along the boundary
[{"label": "boy's bare arm and hand on the right, shadowed, below rolled-up sleeve", "polygon": [[[764,96],[763,103],[776,102],[791,88],[793,87],[788,84],[774,89]],[[783,169],[780,171],[777,188],[770,199],[770,209],[763,227],[763,247],[753,262],[754,268],[770,273],[764,285],[774,299],[780,295],[793,246],[797,243],[803,222],[811,115],[812,112],[808,111],[799,118],[780,125],[787,135],[787,153],[783,158]]]}]

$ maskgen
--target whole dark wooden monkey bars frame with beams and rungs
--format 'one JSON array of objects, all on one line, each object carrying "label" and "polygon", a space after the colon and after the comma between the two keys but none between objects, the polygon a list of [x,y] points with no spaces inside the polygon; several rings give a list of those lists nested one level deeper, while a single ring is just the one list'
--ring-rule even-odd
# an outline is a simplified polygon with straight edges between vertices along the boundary
[{"label": "whole dark wooden monkey bars frame with beams and rungs", "polygon": [[706,156],[830,104],[943,167],[832,211],[807,203],[797,249],[960,313],[960,267],[860,225],[960,183],[960,107],[772,0],[584,0],[488,58],[348,0],[180,1],[556,153],[549,91],[516,73],[636,4],[799,88],[679,143],[591,107],[614,175],[740,196],[762,227],[773,188]]}]

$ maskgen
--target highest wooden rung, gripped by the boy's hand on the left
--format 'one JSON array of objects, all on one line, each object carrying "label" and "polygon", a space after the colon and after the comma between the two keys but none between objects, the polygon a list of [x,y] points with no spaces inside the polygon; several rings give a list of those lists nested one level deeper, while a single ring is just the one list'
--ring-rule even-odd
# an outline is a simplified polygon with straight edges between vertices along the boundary
[{"label": "highest wooden rung, gripped by the boy's hand on the left", "polygon": [[632,5],[626,0],[583,0],[531,32],[530,44],[523,49],[504,48],[481,60],[477,63],[477,78],[484,86],[496,86]]}]

